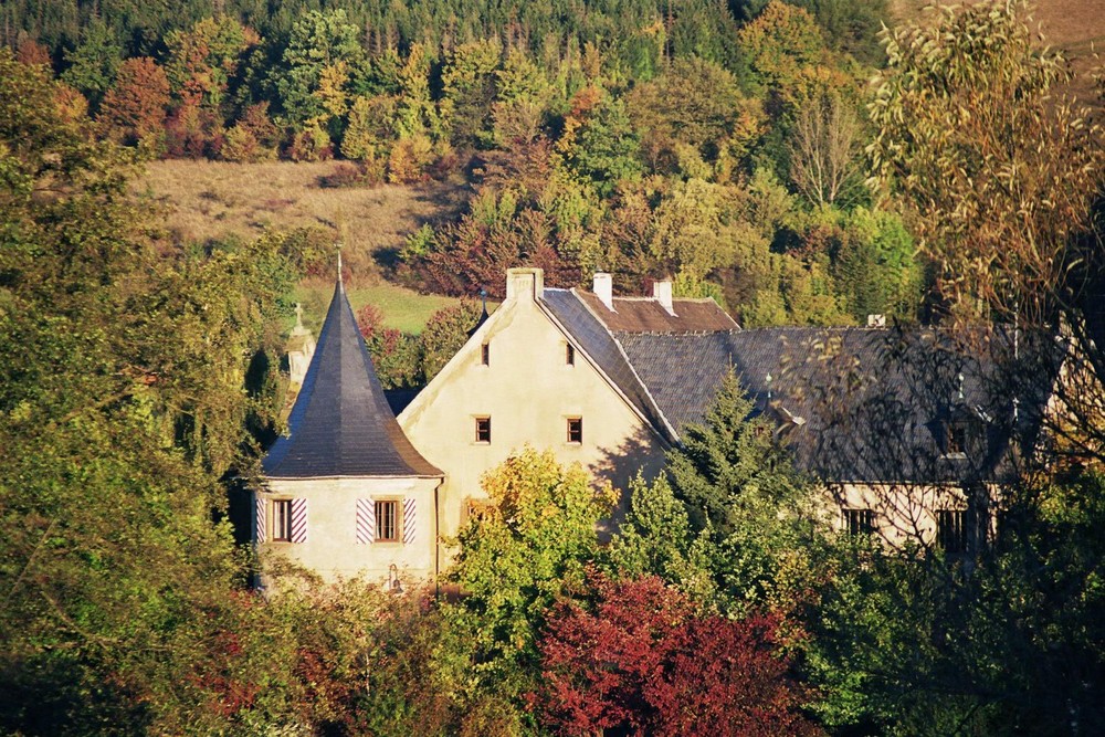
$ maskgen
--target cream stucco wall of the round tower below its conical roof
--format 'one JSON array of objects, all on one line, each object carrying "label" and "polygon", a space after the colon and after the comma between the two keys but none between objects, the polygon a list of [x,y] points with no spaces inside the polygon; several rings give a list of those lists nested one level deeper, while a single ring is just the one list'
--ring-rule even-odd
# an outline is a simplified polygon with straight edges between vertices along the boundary
[{"label": "cream stucco wall of the round tower below its conical roof", "polygon": [[[394,565],[404,586],[434,576],[434,549],[438,537],[434,510],[438,478],[304,478],[269,480],[266,488],[255,492],[266,504],[265,543],[259,548],[264,562],[284,557],[314,570],[325,581],[361,577],[385,580]],[[307,539],[305,543],[272,540],[274,499],[307,499]],[[397,499],[402,517],[402,501],[413,498],[414,537],[410,544],[357,543],[357,499]],[[254,517],[254,527],[256,517]],[[403,527],[400,524],[400,540]],[[254,530],[254,538],[256,530]]]}]

